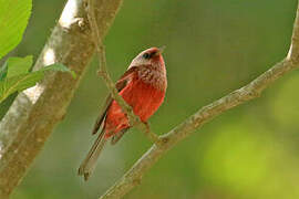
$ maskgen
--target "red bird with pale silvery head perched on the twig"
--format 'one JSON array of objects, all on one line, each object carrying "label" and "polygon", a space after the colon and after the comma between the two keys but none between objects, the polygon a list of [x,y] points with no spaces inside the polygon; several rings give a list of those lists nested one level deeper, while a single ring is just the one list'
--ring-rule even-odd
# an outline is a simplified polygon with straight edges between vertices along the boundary
[{"label": "red bird with pale silvery head perched on the twig", "polygon": [[[135,115],[146,123],[163,103],[167,87],[162,49],[151,48],[141,52],[115,86]],[[95,168],[106,140],[111,138],[111,144],[114,145],[131,127],[127,116],[111,95],[107,96],[103,111],[94,125],[93,134],[96,134],[101,126],[100,135],[79,168],[79,175],[84,176],[85,180]]]}]

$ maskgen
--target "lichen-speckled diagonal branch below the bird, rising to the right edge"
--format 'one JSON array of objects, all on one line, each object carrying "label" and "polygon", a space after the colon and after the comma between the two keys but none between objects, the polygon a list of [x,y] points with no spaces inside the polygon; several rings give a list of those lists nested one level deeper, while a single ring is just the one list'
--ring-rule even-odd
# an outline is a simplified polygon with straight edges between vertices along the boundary
[{"label": "lichen-speckled diagonal branch below the bird, rising to the right edge", "polygon": [[141,184],[143,175],[178,142],[189,136],[195,129],[224,112],[238,106],[245,102],[258,97],[261,92],[271,85],[277,78],[299,66],[299,6],[293,25],[291,46],[289,54],[281,62],[275,64],[270,70],[258,76],[246,86],[234,91],[214,103],[204,106],[184,123],[165,135],[159,136],[163,144],[154,144],[133,167],[112,186],[100,199],[118,199]]}]

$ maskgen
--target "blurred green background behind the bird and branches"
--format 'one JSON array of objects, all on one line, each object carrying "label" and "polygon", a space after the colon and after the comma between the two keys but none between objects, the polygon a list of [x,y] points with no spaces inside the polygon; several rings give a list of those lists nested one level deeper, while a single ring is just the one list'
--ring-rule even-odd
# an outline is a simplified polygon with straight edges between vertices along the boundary
[{"label": "blurred green background behind the bird and branches", "polygon": [[[65,1],[34,0],[14,55],[42,50]],[[166,45],[168,90],[151,118],[164,134],[199,107],[245,85],[287,53],[296,0],[125,0],[105,39],[116,80],[150,46]],[[12,199],[92,199],[102,195],[151,146],[130,130],[107,146],[92,178],[76,176],[94,139],[93,123],[107,94],[89,67],[59,124]],[[234,108],[179,143],[126,199],[299,198],[299,73],[277,81],[261,97]]]}]

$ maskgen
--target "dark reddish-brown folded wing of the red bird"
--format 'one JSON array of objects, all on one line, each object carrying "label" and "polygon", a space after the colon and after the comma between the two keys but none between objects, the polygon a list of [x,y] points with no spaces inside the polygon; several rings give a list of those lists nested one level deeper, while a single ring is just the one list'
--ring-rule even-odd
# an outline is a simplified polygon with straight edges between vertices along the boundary
[{"label": "dark reddish-brown folded wing of the red bird", "polygon": [[[132,80],[133,74],[137,71],[137,66],[132,66],[130,67],[122,76],[121,78],[116,82],[115,87],[118,92],[121,92],[126,85],[127,83]],[[96,134],[97,130],[100,129],[100,127],[102,126],[103,122],[105,121],[109,107],[111,106],[113,102],[113,97],[111,96],[111,94],[109,94],[109,96],[106,97],[106,101],[101,109],[101,114],[99,115],[92,134]]]}]

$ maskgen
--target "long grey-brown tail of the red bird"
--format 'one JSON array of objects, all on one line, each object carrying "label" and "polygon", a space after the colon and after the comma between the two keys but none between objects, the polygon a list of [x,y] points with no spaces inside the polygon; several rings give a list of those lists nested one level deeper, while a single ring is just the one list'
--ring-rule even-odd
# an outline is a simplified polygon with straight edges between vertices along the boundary
[{"label": "long grey-brown tail of the red bird", "polygon": [[92,174],[92,171],[95,168],[96,160],[106,143],[106,138],[104,136],[104,130],[100,133],[97,136],[96,140],[94,142],[92,148],[90,149],[87,156],[85,159],[82,161],[78,175],[79,176],[84,176],[84,180],[86,181]]}]

